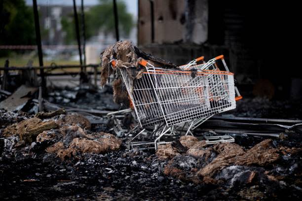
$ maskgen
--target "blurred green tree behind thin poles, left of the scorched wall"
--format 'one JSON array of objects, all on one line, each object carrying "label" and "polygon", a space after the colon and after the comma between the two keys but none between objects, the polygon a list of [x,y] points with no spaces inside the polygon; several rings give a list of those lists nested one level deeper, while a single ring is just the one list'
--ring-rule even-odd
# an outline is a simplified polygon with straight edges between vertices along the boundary
[{"label": "blurred green tree behind thin poles, left of the scorched wall", "polygon": [[[128,36],[134,23],[130,13],[127,12],[126,4],[122,0],[118,0],[117,12],[118,12],[118,25],[119,33],[122,36]],[[79,23],[81,23],[81,17],[78,13]],[[63,31],[66,33],[65,42],[75,43],[75,21],[73,13],[70,13],[67,17],[63,17],[61,20]],[[114,14],[113,14],[113,0],[99,0],[99,4],[90,7],[85,12],[85,32],[86,38],[97,35],[102,31],[105,35],[115,33],[114,30]]]}]

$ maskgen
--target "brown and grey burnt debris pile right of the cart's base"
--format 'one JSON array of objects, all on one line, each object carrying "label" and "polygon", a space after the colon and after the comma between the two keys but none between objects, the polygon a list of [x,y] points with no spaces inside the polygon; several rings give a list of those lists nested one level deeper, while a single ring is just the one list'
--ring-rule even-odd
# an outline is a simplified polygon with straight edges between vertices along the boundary
[{"label": "brown and grey burnt debris pile right of the cart's base", "polygon": [[[292,158],[294,167],[300,166],[298,161],[299,164],[302,163],[301,147],[276,145],[272,139],[264,139],[251,149],[229,142],[206,145],[204,140],[198,141],[193,136],[183,136],[180,143],[187,149],[186,152],[181,151],[175,142],[159,145],[156,151],[158,159],[169,160],[163,173],[199,185],[225,185],[236,188],[260,185],[266,188],[266,183],[273,183],[273,186],[284,188],[282,183],[293,174],[287,175],[288,178],[285,179],[284,174],[276,171],[274,166],[280,162],[285,163],[285,167],[281,169],[289,170],[289,167],[286,168],[288,157]],[[299,169],[296,170],[300,172],[298,177],[301,177],[302,168]],[[294,188],[300,187],[294,185]]]}]

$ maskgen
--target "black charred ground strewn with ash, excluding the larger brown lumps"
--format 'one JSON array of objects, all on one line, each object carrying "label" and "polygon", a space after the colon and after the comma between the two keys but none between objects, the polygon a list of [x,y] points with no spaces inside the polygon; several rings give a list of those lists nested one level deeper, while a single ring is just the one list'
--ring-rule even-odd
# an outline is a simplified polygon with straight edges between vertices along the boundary
[{"label": "black charred ground strewn with ash, excluding the larger brown lumps", "polygon": [[[100,100],[104,105],[100,109],[114,107],[116,109],[111,101],[110,90],[85,93],[79,89],[64,90],[54,90],[48,100],[62,105],[73,104],[78,108],[95,106],[99,104],[96,100]],[[232,114],[275,118],[283,115],[297,118],[298,116],[295,116],[297,113],[288,110],[287,105],[290,103],[246,99],[238,102],[238,109]],[[193,157],[188,154],[188,149],[193,145],[187,143],[186,147],[185,142],[180,145],[185,147],[183,151],[179,150],[179,146],[173,145],[173,151],[178,153],[175,157],[168,156],[162,159],[160,154],[156,155],[154,151],[129,150],[125,146],[126,139],[123,138],[120,148],[116,151],[106,150],[96,154],[77,150],[71,157],[61,159],[58,155],[45,151],[47,147],[60,140],[68,148],[70,142],[67,142],[67,138],[64,141],[64,137],[59,136],[7,149],[9,147],[7,139],[16,143],[20,139],[16,135],[3,136],[5,128],[13,123],[33,118],[33,115],[4,110],[1,110],[0,115],[2,121],[0,197],[3,200],[284,200],[285,198],[299,200],[302,195],[302,135],[299,130],[283,140],[236,135],[235,143],[244,152],[248,152],[255,145],[259,146],[257,144],[265,139],[268,140],[268,145],[262,149],[267,154],[274,150],[277,158],[271,160],[273,157],[268,155],[269,163],[258,165],[229,162],[213,172],[213,175],[202,176],[195,172],[217,160],[222,154],[222,148],[217,146],[223,145],[197,147],[199,151],[210,149],[211,154],[208,157],[207,155]],[[66,115],[50,119],[60,118],[65,119]],[[70,127],[68,124],[72,123],[65,121],[64,124]],[[81,128],[83,125],[78,127]],[[88,129],[83,128],[83,131],[90,137],[96,137],[100,132],[109,132],[106,125],[92,125]],[[72,133],[66,131],[66,136],[85,138],[79,134],[70,136]],[[197,136],[202,134],[204,133],[196,133]]]}]

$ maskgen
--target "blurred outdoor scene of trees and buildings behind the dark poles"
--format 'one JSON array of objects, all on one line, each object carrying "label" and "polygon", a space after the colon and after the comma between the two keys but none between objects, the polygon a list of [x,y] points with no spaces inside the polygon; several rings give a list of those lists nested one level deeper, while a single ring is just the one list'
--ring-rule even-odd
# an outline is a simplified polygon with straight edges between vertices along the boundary
[{"label": "blurred outdoor scene of trees and buildings behind the dark poles", "polygon": [[[43,64],[79,64],[73,0],[37,0]],[[83,0],[87,64],[99,63],[100,53],[115,42],[113,1]],[[138,0],[117,0],[120,39],[137,43]],[[38,66],[33,0],[2,1],[0,64]],[[76,0],[80,34],[81,0]],[[1,21],[2,21],[1,20]],[[1,24],[2,24],[1,23]],[[3,29],[4,26],[4,29]],[[83,44],[83,37],[81,44]]]}]

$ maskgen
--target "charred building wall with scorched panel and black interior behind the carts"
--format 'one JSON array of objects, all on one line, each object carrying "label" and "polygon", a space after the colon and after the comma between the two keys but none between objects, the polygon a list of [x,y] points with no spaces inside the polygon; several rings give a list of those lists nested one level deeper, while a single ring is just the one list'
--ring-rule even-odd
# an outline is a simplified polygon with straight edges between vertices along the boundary
[{"label": "charred building wall with scorched panel and black interior behind the carts", "polygon": [[282,64],[293,52],[287,47],[292,22],[283,14],[287,9],[287,4],[261,0],[139,0],[138,43],[177,64],[224,54],[237,80],[251,85],[250,92],[269,83],[273,88],[265,90],[275,97],[301,98],[301,74]]}]

